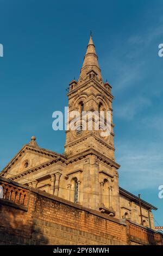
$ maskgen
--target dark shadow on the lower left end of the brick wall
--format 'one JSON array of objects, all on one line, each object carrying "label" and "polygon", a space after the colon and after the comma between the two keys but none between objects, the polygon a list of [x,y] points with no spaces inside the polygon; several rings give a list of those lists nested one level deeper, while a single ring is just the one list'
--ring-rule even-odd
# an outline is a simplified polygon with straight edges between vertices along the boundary
[{"label": "dark shadow on the lower left end of the brick wall", "polygon": [[0,199],[0,245],[48,245],[47,238],[35,227],[27,211],[2,204]]}]

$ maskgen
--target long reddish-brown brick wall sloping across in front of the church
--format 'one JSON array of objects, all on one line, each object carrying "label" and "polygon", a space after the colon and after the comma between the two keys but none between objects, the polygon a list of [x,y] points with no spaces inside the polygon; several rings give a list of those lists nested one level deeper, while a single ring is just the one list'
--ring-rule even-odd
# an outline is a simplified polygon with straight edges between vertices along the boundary
[{"label": "long reddish-brown brick wall sloping across in front of the church", "polygon": [[35,188],[4,178],[0,178],[0,185],[4,187],[4,199],[0,199],[0,244],[126,245],[163,241],[155,231]]}]

